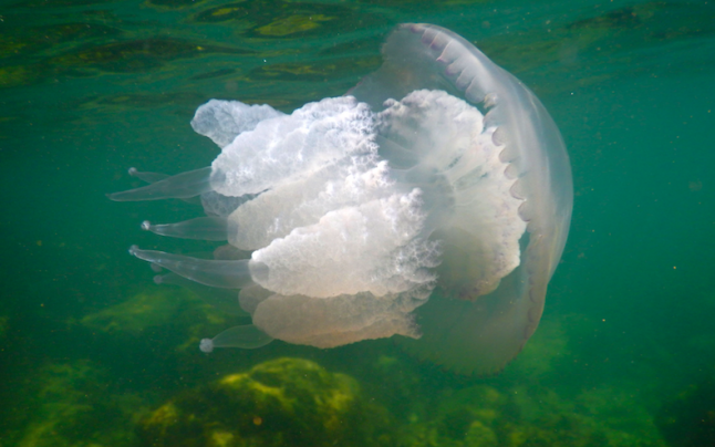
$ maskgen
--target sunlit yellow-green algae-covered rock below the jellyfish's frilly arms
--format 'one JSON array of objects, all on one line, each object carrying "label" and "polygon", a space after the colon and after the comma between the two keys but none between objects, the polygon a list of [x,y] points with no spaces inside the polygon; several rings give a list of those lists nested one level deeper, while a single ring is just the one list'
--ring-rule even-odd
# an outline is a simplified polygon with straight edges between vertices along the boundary
[{"label": "sunlit yellow-green algae-covered rock below the jellyfish's frilly arms", "polygon": [[357,383],[278,358],[174,398],[139,424],[144,446],[379,446],[386,412]]}]

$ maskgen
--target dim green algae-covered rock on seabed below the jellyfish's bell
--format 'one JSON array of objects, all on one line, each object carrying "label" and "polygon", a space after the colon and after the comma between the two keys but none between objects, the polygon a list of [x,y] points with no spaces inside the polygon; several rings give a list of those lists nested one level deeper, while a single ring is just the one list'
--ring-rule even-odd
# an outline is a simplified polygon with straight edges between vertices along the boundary
[{"label": "dim green algae-covered rock on seabed below the jellyfish's bell", "polygon": [[647,412],[622,397],[608,389],[573,399],[553,391],[527,387],[500,391],[475,385],[453,392],[446,389],[424,422],[403,430],[402,444],[412,447],[664,447]]}]

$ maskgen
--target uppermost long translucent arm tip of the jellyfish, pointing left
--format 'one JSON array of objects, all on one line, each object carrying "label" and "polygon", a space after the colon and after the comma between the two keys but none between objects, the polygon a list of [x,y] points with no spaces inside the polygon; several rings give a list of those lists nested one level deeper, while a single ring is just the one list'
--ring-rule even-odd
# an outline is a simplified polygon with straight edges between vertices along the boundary
[{"label": "uppermost long translucent arm tip of the jellyfish, pointing left", "polygon": [[211,167],[177,174],[147,186],[126,191],[108,194],[114,201],[141,201],[160,199],[184,199],[213,190],[209,183]]}]

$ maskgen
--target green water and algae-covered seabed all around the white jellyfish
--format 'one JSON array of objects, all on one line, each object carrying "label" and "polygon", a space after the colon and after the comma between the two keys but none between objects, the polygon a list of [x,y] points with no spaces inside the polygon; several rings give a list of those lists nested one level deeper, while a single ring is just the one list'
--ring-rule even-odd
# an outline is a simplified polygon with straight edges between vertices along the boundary
[{"label": "green water and algae-covered seabed all around the white jellyfish", "polygon": [[[199,212],[105,194],[207,166],[209,98],[342,95],[400,22],[472,41],[561,129],[536,335],[495,377],[392,340],[201,353],[232,318],[126,251],[210,251],[139,229]],[[0,446],[715,446],[712,1],[6,0],[0,58]]]}]

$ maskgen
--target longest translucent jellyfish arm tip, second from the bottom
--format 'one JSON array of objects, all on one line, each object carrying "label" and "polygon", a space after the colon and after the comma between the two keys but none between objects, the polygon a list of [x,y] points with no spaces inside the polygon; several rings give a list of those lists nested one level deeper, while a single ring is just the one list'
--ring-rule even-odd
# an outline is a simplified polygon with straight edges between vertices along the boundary
[{"label": "longest translucent jellyfish arm tip, second from the bottom", "polygon": [[141,250],[136,246],[129,248],[129,253],[205,285],[241,289],[253,283],[249,269],[250,261],[247,259],[238,261],[198,259],[164,251]]}]

